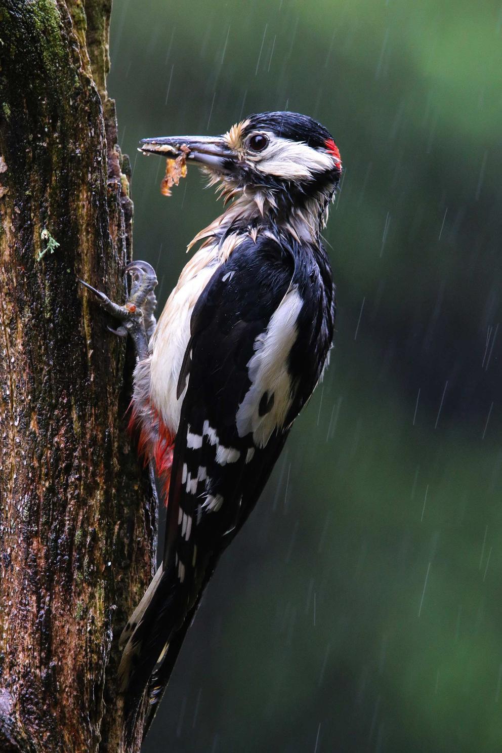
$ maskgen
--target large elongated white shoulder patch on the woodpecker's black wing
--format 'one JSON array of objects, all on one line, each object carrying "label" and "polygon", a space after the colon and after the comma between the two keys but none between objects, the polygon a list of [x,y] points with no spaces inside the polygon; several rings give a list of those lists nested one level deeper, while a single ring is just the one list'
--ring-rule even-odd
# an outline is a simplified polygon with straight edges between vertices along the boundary
[{"label": "large elongated white shoulder patch on the woodpecker's black wing", "polygon": [[[266,331],[254,341],[255,352],[248,362],[251,387],[239,405],[236,425],[239,437],[252,432],[257,447],[264,447],[272,431],[284,425],[291,407],[293,385],[288,373],[288,356],[297,339],[297,319],[302,306],[297,289],[291,288],[273,313]],[[263,406],[265,394],[270,407],[260,415],[260,403]]]}]

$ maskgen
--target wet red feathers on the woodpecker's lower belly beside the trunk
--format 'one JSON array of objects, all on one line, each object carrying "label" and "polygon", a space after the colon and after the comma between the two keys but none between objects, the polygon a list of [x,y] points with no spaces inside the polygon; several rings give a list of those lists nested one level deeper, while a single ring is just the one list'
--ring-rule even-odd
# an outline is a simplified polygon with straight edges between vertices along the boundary
[{"label": "wet red feathers on the woodpecker's lower belly beside the trunk", "polygon": [[[138,455],[145,460],[145,465],[151,459],[155,462],[157,476],[163,483],[162,493],[164,505],[167,507],[169,497],[169,482],[171,480],[172,456],[175,450],[175,437],[166,428],[159,412],[150,407],[149,410],[141,410],[133,403],[129,406],[131,416],[129,418],[128,431],[134,434],[139,431]],[[148,416],[148,419],[146,418]]]}]

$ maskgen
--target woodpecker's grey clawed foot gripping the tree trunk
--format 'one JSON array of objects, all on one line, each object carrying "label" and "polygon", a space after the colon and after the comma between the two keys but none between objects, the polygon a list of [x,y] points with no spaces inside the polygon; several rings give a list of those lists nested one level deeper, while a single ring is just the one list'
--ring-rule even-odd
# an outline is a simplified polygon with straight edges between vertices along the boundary
[{"label": "woodpecker's grey clawed foot gripping the tree trunk", "polygon": [[119,337],[126,337],[129,333],[135,344],[136,354],[142,360],[148,356],[148,341],[154,334],[157,323],[154,316],[157,306],[154,293],[157,276],[154,267],[147,261],[132,261],[126,267],[126,274],[131,276],[131,291],[123,306],[114,303],[107,295],[84,280],[79,282],[96,296],[99,305],[105,311],[120,321],[117,329],[108,329]]}]

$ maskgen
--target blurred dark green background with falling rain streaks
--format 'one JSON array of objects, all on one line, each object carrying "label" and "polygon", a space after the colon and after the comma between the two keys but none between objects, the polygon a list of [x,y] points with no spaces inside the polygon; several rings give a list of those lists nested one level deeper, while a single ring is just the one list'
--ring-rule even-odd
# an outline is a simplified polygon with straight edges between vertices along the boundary
[{"label": "blurred dark green background with falling rain streaks", "polygon": [[311,114],[345,166],[332,361],[208,587],[145,753],[502,750],[502,11],[114,0],[135,258],[221,206],[145,136]]}]

